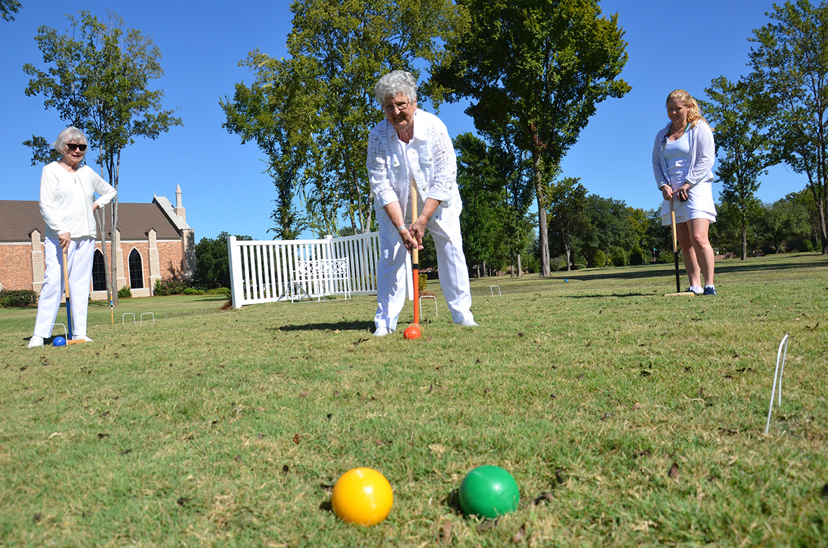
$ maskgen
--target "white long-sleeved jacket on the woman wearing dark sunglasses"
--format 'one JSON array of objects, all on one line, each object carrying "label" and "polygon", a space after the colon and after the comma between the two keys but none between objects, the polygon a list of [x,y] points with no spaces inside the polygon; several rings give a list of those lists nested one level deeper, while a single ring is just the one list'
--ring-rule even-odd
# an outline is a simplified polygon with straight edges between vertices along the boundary
[{"label": "white long-sleeved jacket on the woman wearing dark sunglasses", "polygon": [[[94,200],[94,193],[100,198]],[[46,238],[68,232],[71,238],[95,238],[92,204],[103,207],[115,198],[115,189],[89,166],[70,173],[56,161],[43,166],[41,174],[41,217]]]}]

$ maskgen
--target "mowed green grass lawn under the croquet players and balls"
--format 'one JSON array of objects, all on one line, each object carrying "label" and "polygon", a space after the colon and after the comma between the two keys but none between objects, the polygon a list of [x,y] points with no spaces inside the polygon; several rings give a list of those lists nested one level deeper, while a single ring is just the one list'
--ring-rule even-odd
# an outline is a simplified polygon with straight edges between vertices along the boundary
[{"label": "mowed green grass lawn under the croquet players and balls", "polygon": [[[416,341],[410,304],[373,338],[370,296],[94,304],[93,343],[32,350],[35,310],[0,310],[0,546],[828,546],[828,258],[716,286],[485,278],[462,328],[433,283]],[[521,489],[497,522],[456,507],[481,464]],[[378,526],[330,511],[357,466],[394,489]]]}]

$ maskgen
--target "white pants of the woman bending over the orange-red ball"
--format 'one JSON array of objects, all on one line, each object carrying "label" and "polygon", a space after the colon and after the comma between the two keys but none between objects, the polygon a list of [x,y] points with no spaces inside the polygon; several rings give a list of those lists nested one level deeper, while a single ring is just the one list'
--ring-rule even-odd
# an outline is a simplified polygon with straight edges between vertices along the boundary
[{"label": "white pants of the woman bending over the orange-red ball", "polygon": [[[440,272],[440,289],[449,306],[455,324],[464,320],[474,321],[471,314],[471,288],[469,269],[463,253],[460,235],[460,218],[441,212],[428,219],[431,238],[437,252],[437,268]],[[377,208],[379,223],[379,260],[377,262],[377,314],[373,323],[389,331],[397,329],[397,319],[406,301],[406,248],[384,209]],[[410,224],[411,219],[406,219]],[[417,319],[419,321],[419,319]]]}]

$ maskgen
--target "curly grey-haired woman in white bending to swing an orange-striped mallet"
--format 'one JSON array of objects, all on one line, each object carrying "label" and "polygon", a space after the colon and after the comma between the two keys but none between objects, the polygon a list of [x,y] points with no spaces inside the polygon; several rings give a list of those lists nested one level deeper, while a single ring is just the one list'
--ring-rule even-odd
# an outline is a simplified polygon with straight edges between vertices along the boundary
[{"label": "curly grey-haired woman in white bending to swing an orange-striped mallet", "polygon": [[[368,134],[368,180],[379,224],[377,313],[374,335],[397,329],[405,304],[406,252],[422,249],[426,227],[434,239],[440,288],[455,324],[477,325],[471,313],[469,270],[460,236],[457,158],[445,124],[416,108],[416,80],[392,70],[374,86],[385,119]],[[412,219],[411,186],[417,211]]]}]

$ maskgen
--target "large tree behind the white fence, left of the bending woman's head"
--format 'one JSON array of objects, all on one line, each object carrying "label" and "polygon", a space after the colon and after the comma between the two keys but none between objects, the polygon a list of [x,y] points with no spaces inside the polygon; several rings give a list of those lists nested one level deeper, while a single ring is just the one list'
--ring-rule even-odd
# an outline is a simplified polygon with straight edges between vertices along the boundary
[{"label": "large tree behind the white fence, left of the bending woman's head", "polygon": [[[301,136],[301,155],[277,147],[270,164],[291,157],[299,180],[283,183],[301,190],[316,233],[337,233],[342,215],[355,231],[368,232],[368,130],[383,118],[373,85],[390,69],[418,74],[417,60],[439,60],[438,45],[463,27],[463,12],[446,0],[294,0],[291,13],[291,58],[273,60],[255,51],[244,62],[262,90],[254,99],[269,109],[261,122],[248,123],[267,126],[273,118],[288,124],[288,134]],[[418,102],[427,89],[421,85]],[[227,127],[235,131],[232,123]]]}]

